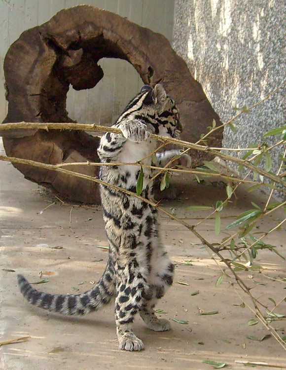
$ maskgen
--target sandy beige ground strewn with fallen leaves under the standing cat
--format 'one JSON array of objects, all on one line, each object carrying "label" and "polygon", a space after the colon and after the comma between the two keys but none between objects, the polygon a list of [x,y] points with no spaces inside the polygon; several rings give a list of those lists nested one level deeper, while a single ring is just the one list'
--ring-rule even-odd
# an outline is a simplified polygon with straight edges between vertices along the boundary
[{"label": "sandy beige ground strewn with fallen leaves under the standing cat", "polygon": [[[178,217],[195,223],[206,213],[187,212],[187,205],[212,205],[224,196],[224,185],[208,182],[200,186],[192,181],[177,200],[162,204],[168,210],[174,208]],[[232,204],[224,212],[222,226],[246,210],[251,200],[262,204],[265,194],[249,194],[242,188],[237,206]],[[47,206],[50,207],[45,209]],[[258,227],[269,228],[275,224],[274,219],[282,217],[276,214]],[[215,287],[220,270],[212,255],[178,223],[161,218],[163,241],[177,266],[174,285],[157,308],[164,312],[161,317],[171,320],[172,331],[153,333],[136,318],[135,333],[143,340],[145,350],[129,353],[118,349],[112,304],[84,318],[67,318],[29,305],[16,285],[16,273],[20,272],[32,282],[48,278],[49,282],[37,285],[46,292],[72,294],[90,289],[107,261],[107,249],[99,248],[107,247],[101,210],[62,205],[25,180],[11,164],[0,162],[0,218],[0,340],[30,336],[28,341],[0,347],[1,369],[212,369],[204,360],[226,362],[234,370],[245,368],[235,360],[286,365],[286,352],[274,338],[247,338],[251,335],[261,339],[267,330],[261,324],[248,326],[254,315],[247,307],[239,306],[240,298],[229,279]],[[213,219],[202,223],[198,230],[210,241],[220,240],[214,235]],[[269,241],[281,245],[285,236],[282,230]],[[285,248],[278,250],[286,255]],[[282,280],[286,277],[285,261],[265,251],[259,253],[257,263],[264,267],[262,274],[247,271],[240,275],[251,287],[255,285],[253,281],[263,284],[252,292],[271,308],[273,303],[268,297],[278,302],[286,296],[286,281]],[[196,291],[199,293],[192,295]],[[249,302],[240,290],[237,292]],[[219,313],[200,316],[200,309]],[[285,302],[277,312],[286,314]],[[285,335],[285,321],[274,322],[273,326],[280,328],[281,336]]]}]

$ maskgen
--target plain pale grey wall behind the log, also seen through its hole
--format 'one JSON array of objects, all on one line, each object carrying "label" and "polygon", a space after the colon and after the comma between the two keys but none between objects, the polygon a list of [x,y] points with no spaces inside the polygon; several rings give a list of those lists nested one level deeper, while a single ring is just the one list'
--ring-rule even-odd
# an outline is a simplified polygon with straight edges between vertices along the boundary
[{"label": "plain pale grey wall behind the log, also seen through its hole", "polygon": [[[48,21],[56,12],[82,3],[97,6],[160,32],[172,41],[175,0],[0,0],[0,122],[6,116],[3,60],[8,47],[23,31]],[[70,88],[69,116],[81,123],[112,124],[142,86],[126,61],[102,59],[103,79],[90,90]]]}]

